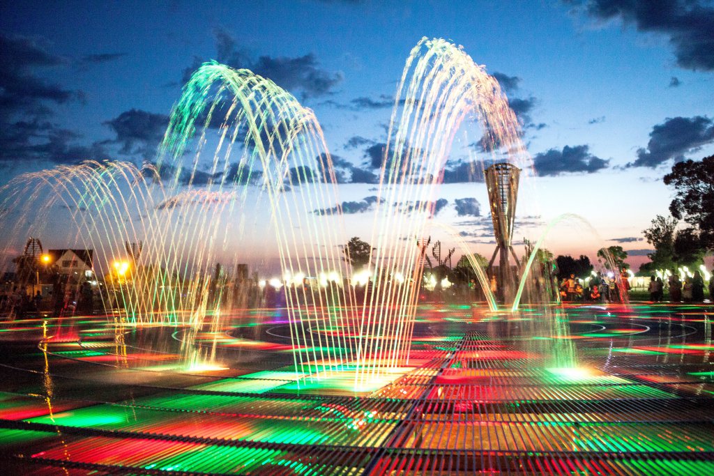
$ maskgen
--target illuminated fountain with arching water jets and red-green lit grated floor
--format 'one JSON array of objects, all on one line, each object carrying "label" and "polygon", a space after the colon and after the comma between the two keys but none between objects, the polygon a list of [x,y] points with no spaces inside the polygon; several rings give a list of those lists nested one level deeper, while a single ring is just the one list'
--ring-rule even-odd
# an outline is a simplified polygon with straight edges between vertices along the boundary
[{"label": "illuminated fountain with arching water jets and red-green lit grated floor", "polygon": [[[86,162],[4,186],[4,255],[50,234],[95,250],[101,312],[0,323],[0,345],[13,346],[0,363],[0,462],[137,474],[713,471],[703,308],[533,302],[549,231],[582,221],[565,215],[533,246],[511,309],[498,309],[468,245],[434,219],[471,119],[507,159],[486,181],[508,268],[516,183],[533,174],[518,122],[482,66],[423,39],[395,96],[363,292],[343,259],[318,121],[251,71],[201,66],[155,165]],[[268,218],[251,221],[261,205]],[[486,303],[420,302],[434,230],[469,257]],[[226,251],[246,233],[278,252],[282,279],[262,283],[279,289],[277,305],[251,294],[260,283],[245,257]]]}]

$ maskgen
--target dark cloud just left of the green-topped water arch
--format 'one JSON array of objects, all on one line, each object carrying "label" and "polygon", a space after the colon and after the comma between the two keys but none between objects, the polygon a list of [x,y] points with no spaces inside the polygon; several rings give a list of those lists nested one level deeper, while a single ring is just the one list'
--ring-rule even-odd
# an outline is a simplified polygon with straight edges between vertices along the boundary
[{"label": "dark cloud just left of the green-topped water arch", "polygon": [[115,134],[114,140],[105,143],[119,144],[119,153],[125,156],[139,155],[148,160],[153,158],[156,148],[164,139],[169,116],[132,108],[105,121],[104,125],[109,126]]}]

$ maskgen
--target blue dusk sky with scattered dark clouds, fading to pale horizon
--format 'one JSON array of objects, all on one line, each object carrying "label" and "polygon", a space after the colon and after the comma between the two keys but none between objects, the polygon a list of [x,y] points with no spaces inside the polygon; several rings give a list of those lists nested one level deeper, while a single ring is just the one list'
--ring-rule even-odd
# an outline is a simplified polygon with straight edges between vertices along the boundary
[{"label": "blue dusk sky with scattered dark clouds, fading to pale horizon", "polygon": [[[154,161],[183,82],[211,59],[286,88],[315,111],[333,156],[375,172],[404,63],[424,36],[463,46],[521,121],[538,178],[522,186],[517,241],[577,213],[600,243],[561,226],[548,248],[593,256],[621,244],[642,263],[641,232],[673,195],[663,175],[714,153],[711,1],[3,2],[0,185],[89,158]],[[374,195],[353,181],[341,200]],[[448,206],[435,219],[490,257],[486,186],[453,178],[440,193]],[[372,223],[358,212],[345,216],[351,235]]]}]

